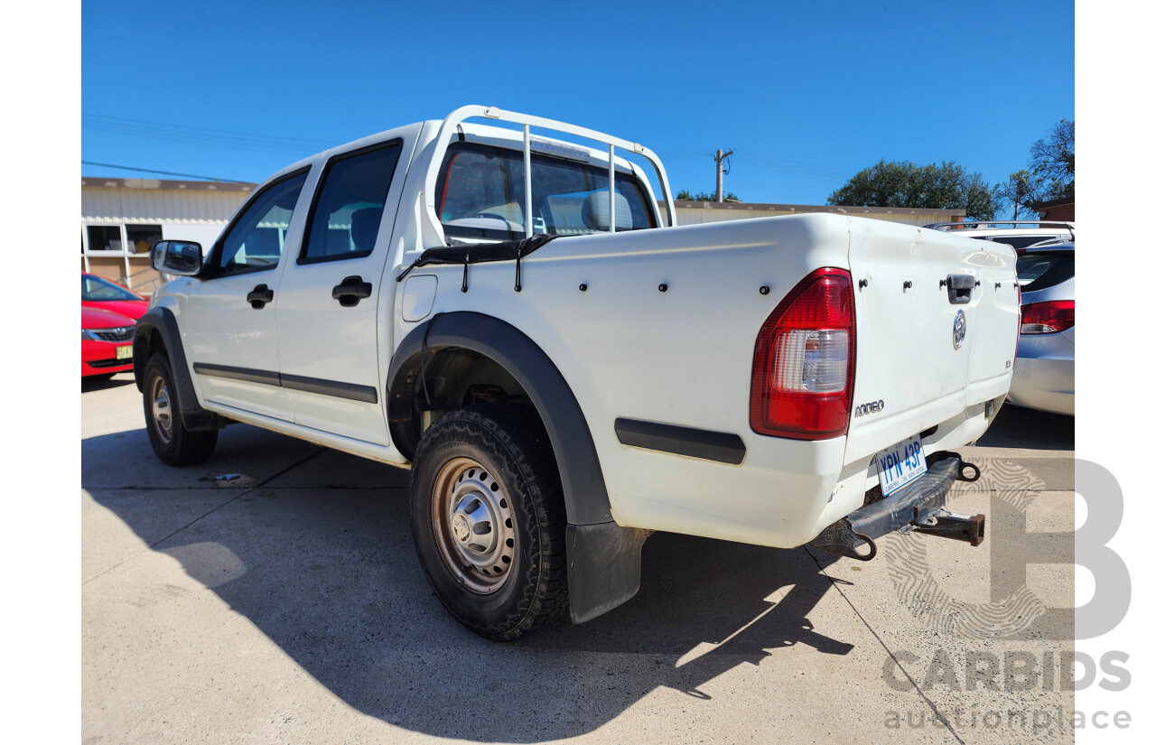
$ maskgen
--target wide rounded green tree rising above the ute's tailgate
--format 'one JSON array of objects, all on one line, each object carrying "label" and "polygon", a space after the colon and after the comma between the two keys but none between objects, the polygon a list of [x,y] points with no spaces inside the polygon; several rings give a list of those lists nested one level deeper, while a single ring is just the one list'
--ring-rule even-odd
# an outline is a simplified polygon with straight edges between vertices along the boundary
[{"label": "wide rounded green tree rising above the ute's tailgate", "polygon": [[962,209],[969,217],[992,219],[992,187],[979,173],[953,161],[916,165],[910,161],[880,161],[859,171],[828,199],[828,204]]}]

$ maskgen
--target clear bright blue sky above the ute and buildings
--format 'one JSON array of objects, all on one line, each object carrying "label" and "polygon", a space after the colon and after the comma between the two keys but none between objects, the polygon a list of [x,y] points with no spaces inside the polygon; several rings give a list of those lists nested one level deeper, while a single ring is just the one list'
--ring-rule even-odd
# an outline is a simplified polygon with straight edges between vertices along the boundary
[{"label": "clear bright blue sky above the ute and buildings", "polygon": [[1002,180],[1075,110],[1073,2],[86,2],[81,33],[83,161],[251,181],[476,103],[821,204],[880,159]]}]

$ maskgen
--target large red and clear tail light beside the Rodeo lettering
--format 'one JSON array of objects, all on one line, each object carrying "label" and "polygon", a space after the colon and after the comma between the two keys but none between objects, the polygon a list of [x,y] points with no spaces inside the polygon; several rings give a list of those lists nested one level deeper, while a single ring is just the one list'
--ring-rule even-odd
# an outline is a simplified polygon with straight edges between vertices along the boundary
[{"label": "large red and clear tail light beside the Rodeo lettering", "polygon": [[783,298],[755,341],[755,432],[821,440],[847,431],[854,321],[851,275],[844,269],[816,269]]}]

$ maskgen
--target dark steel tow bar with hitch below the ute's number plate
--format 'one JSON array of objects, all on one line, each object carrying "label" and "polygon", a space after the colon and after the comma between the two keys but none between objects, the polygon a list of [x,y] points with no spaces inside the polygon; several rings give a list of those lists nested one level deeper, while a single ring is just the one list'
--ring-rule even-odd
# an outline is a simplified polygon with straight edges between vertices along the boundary
[{"label": "dark steel tow bar with hitch below the ute's number plate", "polygon": [[[971,472],[965,472],[969,469]],[[964,462],[958,453],[935,453],[928,457],[927,472],[921,477],[831,523],[807,545],[860,561],[875,558],[875,538],[896,530],[918,530],[978,546],[984,542],[987,519],[944,508],[947,493],[956,480],[979,480],[979,467]],[[867,546],[867,552],[860,553],[860,546]]]}]

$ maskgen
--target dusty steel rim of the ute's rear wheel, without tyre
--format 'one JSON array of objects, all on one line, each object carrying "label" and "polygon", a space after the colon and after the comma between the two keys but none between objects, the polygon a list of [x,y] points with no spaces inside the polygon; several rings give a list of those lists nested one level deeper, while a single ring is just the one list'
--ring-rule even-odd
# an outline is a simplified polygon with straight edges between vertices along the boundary
[{"label": "dusty steel rim of the ute's rear wheel, without tyre", "polygon": [[505,586],[518,564],[518,523],[505,487],[470,457],[455,457],[433,479],[431,521],[438,553],[479,595]]}]

